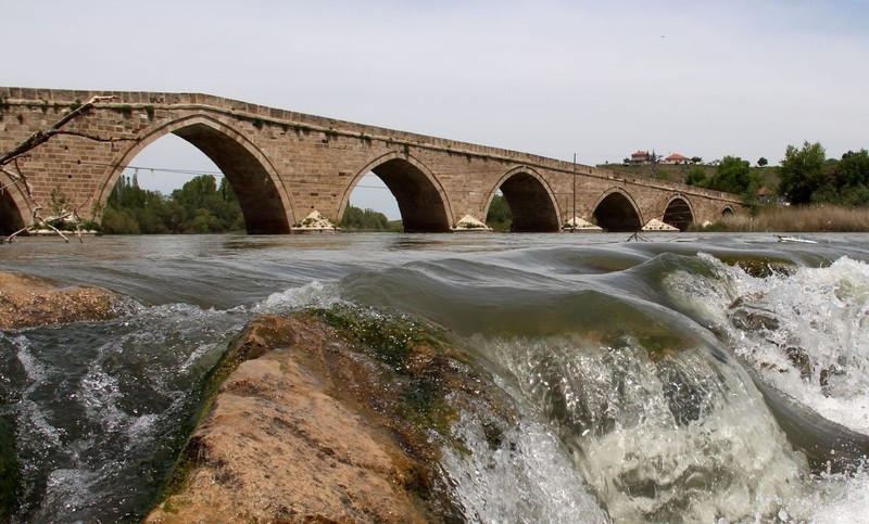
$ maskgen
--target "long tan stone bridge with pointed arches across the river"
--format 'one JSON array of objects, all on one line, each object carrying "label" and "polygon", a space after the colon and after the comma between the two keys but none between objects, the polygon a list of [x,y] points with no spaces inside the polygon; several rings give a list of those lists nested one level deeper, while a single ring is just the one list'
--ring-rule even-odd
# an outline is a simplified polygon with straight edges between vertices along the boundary
[{"label": "long tan stone bridge with pointed arches across the river", "polygon": [[0,152],[95,94],[114,99],[64,129],[126,140],[61,135],[33,150],[17,164],[30,192],[0,174],[0,228],[29,223],[52,191],[81,205],[83,218],[99,219],[124,168],[167,133],[219,167],[249,233],[289,233],[313,210],[340,220],[353,189],[371,171],[394,195],[408,232],[464,229],[466,217],[484,221],[499,190],[514,230],[525,232],[559,231],[572,217],[607,231],[637,231],[651,219],[684,230],[743,213],[735,195],[717,191],[207,94],[0,87]]}]

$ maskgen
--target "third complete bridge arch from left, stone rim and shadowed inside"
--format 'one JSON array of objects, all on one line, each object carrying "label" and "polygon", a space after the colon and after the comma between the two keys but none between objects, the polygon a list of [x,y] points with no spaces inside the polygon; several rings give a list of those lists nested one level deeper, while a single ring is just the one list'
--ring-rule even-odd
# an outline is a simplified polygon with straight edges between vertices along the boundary
[{"label": "third complete bridge arch from left, stone rim and shadowed inside", "polygon": [[[558,201],[546,180],[526,166],[505,172],[489,193],[486,209],[501,190],[513,215],[512,231],[522,233],[550,233],[559,231]],[[484,219],[484,217],[482,217]]]}]

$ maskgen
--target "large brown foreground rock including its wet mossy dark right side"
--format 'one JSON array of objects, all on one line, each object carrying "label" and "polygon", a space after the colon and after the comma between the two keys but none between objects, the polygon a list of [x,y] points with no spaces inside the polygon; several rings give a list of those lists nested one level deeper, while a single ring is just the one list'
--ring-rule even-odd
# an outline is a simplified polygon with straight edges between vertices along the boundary
[{"label": "large brown foreground rock including its wet mossy dark right side", "polygon": [[440,447],[462,409],[502,409],[494,388],[413,322],[317,315],[245,328],[228,358],[240,363],[147,522],[461,517]]}]

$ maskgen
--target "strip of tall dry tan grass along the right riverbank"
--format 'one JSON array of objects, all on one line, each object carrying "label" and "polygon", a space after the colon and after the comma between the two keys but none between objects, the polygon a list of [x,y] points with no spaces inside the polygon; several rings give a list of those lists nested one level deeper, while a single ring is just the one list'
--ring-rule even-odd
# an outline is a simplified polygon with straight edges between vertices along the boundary
[{"label": "strip of tall dry tan grass along the right riverbank", "polygon": [[726,216],[703,231],[867,232],[869,208],[833,205],[765,207],[755,217]]}]

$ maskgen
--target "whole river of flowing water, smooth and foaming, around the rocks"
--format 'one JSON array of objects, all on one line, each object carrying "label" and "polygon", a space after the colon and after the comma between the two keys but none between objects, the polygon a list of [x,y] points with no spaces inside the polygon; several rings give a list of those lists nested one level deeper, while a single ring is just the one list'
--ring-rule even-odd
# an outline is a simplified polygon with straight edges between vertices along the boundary
[{"label": "whole river of flowing water, smooth and foaming, around the rocks", "polygon": [[[15,522],[142,517],[252,317],[356,304],[445,328],[521,419],[442,471],[469,522],[858,522],[869,239],[660,234],[22,239],[0,270],[134,312],[0,332]],[[14,447],[13,447],[14,446]]]}]

